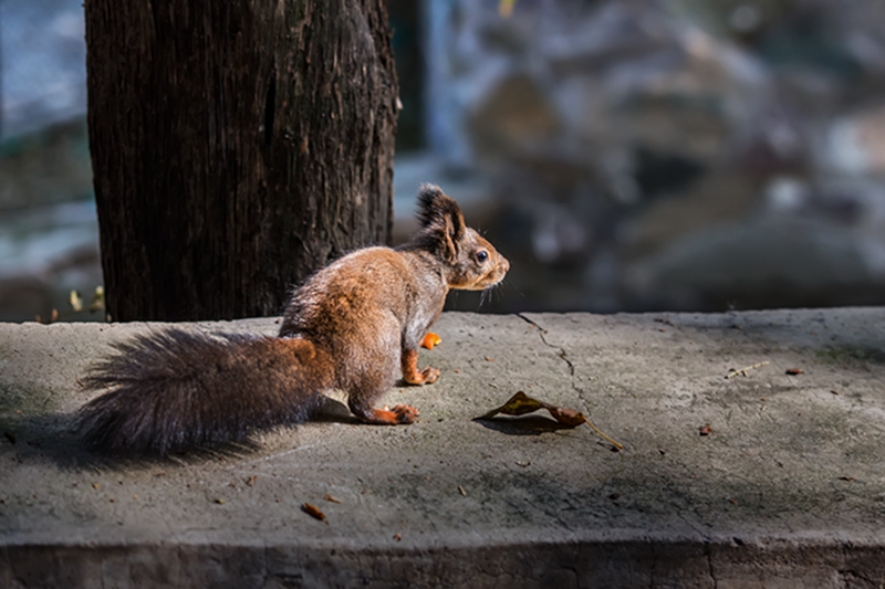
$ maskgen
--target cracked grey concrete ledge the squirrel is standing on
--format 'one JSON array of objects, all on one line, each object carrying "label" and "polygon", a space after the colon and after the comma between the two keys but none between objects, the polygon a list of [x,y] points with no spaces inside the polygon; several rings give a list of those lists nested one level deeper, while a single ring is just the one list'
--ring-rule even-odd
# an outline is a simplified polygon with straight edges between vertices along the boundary
[{"label": "cracked grey concrete ledge the squirrel is standing on", "polygon": [[[446,314],[420,359],[440,381],[385,399],[419,407],[414,425],[332,403],[249,448],[79,450],[77,379],[159,327],[0,324],[0,587],[885,583],[883,308]],[[471,421],[518,390],[626,449],[543,417]]]}]

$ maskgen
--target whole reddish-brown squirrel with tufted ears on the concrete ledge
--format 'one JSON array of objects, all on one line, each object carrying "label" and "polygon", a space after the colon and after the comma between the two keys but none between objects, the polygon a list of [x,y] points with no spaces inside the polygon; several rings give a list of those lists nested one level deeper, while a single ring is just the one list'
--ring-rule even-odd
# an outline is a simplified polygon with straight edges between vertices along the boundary
[{"label": "whole reddish-brown squirrel with tufted ears on the concrete ledge", "polygon": [[489,288],[510,269],[439,187],[421,185],[418,206],[407,243],[351,252],[296,288],[277,337],[165,328],[114,345],[84,379],[105,391],[77,412],[85,445],[163,456],[241,442],[309,419],[333,389],[366,423],[413,423],[415,407],[375,402],[397,371],[435,382],[439,370],[419,369],[417,348],[447,293]]}]

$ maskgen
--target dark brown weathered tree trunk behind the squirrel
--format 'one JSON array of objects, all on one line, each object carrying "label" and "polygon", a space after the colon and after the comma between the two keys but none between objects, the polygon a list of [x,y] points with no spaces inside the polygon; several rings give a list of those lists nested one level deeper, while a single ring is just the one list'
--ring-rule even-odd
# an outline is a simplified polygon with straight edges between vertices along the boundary
[{"label": "dark brown weathered tree trunk behind the squirrel", "polygon": [[86,0],[88,126],[114,320],[282,312],[389,241],[384,0]]}]

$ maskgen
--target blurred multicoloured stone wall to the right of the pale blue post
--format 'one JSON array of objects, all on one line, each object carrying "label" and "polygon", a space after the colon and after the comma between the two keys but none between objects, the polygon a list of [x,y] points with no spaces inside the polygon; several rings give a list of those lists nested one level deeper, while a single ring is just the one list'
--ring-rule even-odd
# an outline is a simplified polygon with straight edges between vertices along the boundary
[{"label": "blurred multicoloured stone wall to the right of the pale blue post", "polygon": [[[500,309],[881,304],[876,2],[459,2]],[[497,106],[497,108],[496,108]]]}]

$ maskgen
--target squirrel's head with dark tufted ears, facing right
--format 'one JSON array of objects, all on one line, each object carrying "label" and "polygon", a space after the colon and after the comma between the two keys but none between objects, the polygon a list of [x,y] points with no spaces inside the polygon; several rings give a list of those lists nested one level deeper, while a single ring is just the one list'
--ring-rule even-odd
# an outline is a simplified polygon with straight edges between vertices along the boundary
[{"label": "squirrel's head with dark tufted ears, facing right", "polygon": [[418,220],[421,229],[415,241],[446,265],[450,288],[482,291],[510,270],[510,262],[465,224],[461,208],[438,186],[421,185],[418,190]]}]

